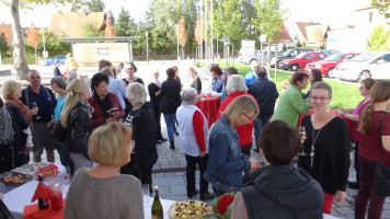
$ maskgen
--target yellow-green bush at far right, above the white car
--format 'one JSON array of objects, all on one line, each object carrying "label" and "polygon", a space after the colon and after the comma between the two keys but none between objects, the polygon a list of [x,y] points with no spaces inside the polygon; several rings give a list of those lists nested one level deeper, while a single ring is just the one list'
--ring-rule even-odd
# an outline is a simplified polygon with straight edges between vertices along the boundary
[{"label": "yellow-green bush at far right, above the white car", "polygon": [[385,31],[383,26],[376,26],[372,30],[371,36],[369,38],[369,47],[367,48],[370,51],[383,51],[389,49],[389,37],[390,30]]}]

